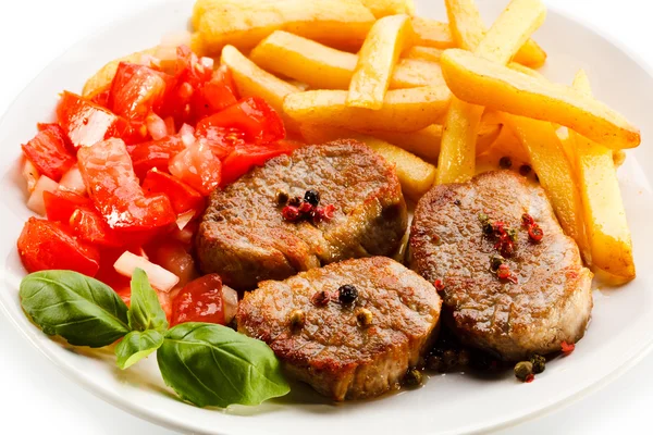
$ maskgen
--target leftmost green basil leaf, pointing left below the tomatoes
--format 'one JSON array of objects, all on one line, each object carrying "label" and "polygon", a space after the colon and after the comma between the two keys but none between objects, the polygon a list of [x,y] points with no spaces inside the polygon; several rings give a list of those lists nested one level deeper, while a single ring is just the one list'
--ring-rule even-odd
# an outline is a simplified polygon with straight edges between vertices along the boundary
[{"label": "leftmost green basil leaf, pointing left below the tomatoes", "polygon": [[108,346],[130,332],[127,306],[115,291],[77,272],[32,273],[21,282],[20,296],[34,323],[71,345]]}]

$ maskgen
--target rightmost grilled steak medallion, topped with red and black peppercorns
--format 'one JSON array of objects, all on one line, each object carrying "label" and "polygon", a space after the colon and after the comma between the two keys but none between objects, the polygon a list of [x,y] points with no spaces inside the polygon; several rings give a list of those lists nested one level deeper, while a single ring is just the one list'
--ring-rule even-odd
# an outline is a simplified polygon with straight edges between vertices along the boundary
[{"label": "rightmost grilled steak medallion, topped with red and black peppercorns", "polygon": [[[543,231],[541,241],[529,237],[525,213]],[[500,221],[504,231],[517,231],[505,261],[492,229]],[[576,343],[584,334],[592,273],[544,190],[523,177],[492,172],[434,187],[417,206],[409,249],[412,268],[430,282],[441,281],[443,320],[468,345],[516,361],[559,350],[562,341]],[[498,277],[502,261],[508,265],[502,272],[517,283]]]}]

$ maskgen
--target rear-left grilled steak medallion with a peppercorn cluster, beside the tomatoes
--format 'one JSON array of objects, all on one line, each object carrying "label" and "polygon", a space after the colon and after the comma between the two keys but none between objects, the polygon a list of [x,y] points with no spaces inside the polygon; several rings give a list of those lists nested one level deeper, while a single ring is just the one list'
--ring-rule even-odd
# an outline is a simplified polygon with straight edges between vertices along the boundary
[{"label": "rear-left grilled steak medallion with a peppercorn cluster, beside the tomatoes", "polygon": [[[319,191],[334,204],[332,220],[287,222],[278,194]],[[219,273],[236,289],[284,279],[335,261],[390,256],[407,228],[399,182],[367,146],[343,140],[271,159],[211,196],[197,237],[205,273]]]}]

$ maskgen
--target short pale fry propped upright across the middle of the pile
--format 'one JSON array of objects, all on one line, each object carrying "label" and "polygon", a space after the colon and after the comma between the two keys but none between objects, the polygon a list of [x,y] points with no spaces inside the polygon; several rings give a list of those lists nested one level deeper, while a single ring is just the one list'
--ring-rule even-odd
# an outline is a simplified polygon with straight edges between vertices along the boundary
[{"label": "short pale fry propped upright across the middle of the pile", "polygon": [[385,16],[374,23],[358,53],[347,105],[381,109],[395,64],[411,39],[412,25],[408,15]]}]

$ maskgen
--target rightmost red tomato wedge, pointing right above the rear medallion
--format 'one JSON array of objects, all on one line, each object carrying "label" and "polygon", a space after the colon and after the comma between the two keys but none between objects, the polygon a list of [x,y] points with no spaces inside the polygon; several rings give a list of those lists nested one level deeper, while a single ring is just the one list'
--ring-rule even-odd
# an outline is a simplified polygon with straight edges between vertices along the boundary
[{"label": "rightmost red tomato wedge, pointing right above the rear medallion", "polygon": [[221,186],[235,182],[254,166],[261,166],[273,157],[289,154],[295,148],[296,146],[289,142],[237,145],[222,162]]}]

